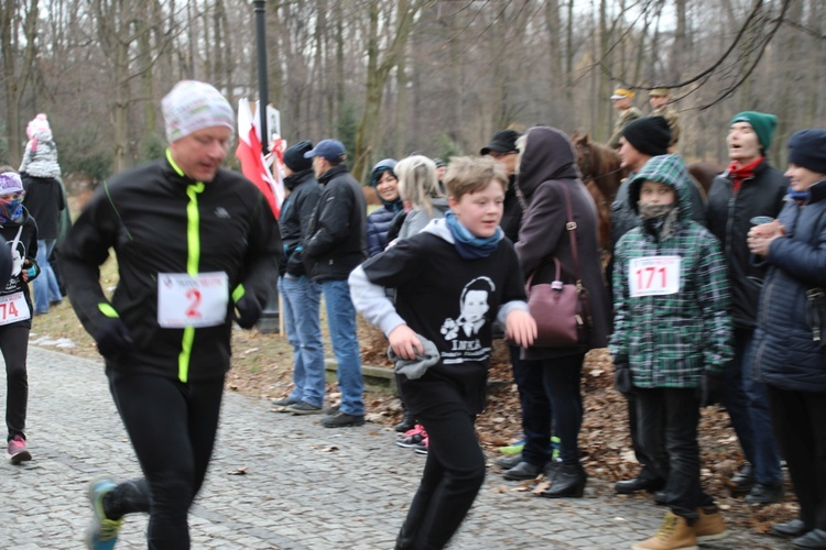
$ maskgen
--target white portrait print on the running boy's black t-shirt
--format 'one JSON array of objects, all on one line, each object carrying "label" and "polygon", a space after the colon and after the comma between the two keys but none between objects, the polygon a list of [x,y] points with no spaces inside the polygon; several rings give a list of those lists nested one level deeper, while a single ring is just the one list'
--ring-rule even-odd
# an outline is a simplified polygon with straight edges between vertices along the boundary
[{"label": "white portrait print on the running boy's black t-shirt", "polygon": [[490,348],[482,348],[479,331],[487,321],[488,297],[493,290],[496,285],[490,277],[476,277],[465,285],[459,298],[459,317],[447,318],[442,323],[441,332],[452,343],[450,351],[442,353],[443,363],[479,361],[490,352]]}]

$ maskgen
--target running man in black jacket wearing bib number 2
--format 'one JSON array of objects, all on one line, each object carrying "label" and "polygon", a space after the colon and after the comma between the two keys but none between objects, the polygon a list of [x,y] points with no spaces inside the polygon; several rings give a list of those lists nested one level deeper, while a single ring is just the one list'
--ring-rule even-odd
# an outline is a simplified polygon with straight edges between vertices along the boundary
[{"label": "running man in black jacket wearing bib number 2", "polygon": [[[165,158],[98,188],[61,252],[69,299],[106,360],[144,474],[93,480],[93,549],[112,548],[133,512],[150,514],[149,548],[189,548],[187,514],[213,452],[231,321],[252,328],[278,276],[271,209],[220,167],[235,131],[227,100],[185,80],[163,99],[163,114]],[[120,276],[111,297],[99,283],[109,249]]]}]

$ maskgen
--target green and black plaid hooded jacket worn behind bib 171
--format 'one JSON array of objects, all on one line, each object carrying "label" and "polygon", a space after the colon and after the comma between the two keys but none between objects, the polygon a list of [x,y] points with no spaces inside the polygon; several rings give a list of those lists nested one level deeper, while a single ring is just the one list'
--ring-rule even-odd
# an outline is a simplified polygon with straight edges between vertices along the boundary
[{"label": "green and black plaid hooded jacket worn behind bib 171", "polygon": [[[726,264],[717,239],[691,220],[692,184],[682,158],[655,156],[634,176],[629,188],[634,211],[644,180],[674,187],[677,218],[662,239],[662,231],[640,224],[617,245],[611,355],[628,360],[637,387],[697,387],[704,372],[721,373],[732,356]],[[680,256],[676,293],[631,297],[631,260],[650,256]]]}]

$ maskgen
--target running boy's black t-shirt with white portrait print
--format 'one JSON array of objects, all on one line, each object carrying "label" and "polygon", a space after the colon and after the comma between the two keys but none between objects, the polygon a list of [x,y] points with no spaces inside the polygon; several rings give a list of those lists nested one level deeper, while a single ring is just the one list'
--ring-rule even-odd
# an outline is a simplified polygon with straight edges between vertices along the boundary
[{"label": "running boy's black t-shirt with white portrait print", "polygon": [[442,355],[419,380],[398,376],[407,408],[417,414],[454,403],[481,413],[491,326],[502,304],[525,299],[513,244],[502,239],[489,256],[464,260],[453,243],[425,232],[400,241],[362,268],[371,283],[396,289],[399,315]]}]

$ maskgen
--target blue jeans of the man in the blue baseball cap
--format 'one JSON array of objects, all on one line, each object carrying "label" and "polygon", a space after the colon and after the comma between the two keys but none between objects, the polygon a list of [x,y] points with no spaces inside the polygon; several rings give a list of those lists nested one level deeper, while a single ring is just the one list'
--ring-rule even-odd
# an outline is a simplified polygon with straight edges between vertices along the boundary
[{"label": "blue jeans of the man in the blue baseball cap", "polygon": [[338,389],[341,392],[341,413],[363,415],[365,381],[361,378],[361,351],[356,334],[356,308],[350,299],[347,279],[323,280],[324,302],[333,353],[338,363]]}]

